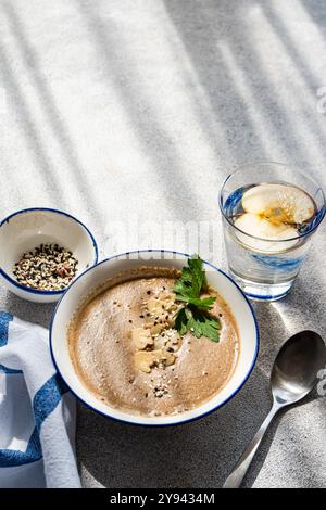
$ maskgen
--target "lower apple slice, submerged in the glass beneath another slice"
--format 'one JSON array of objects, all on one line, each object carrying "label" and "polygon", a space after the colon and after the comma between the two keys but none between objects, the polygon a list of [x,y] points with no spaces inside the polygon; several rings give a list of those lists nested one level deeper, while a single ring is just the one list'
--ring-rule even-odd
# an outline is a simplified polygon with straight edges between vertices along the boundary
[{"label": "lower apple slice, submerged in the glass beneath another slice", "polygon": [[[242,214],[236,219],[235,227],[244,232],[237,232],[238,239],[259,252],[283,252],[298,243],[297,238],[299,234],[293,227],[285,224],[273,224],[258,214]],[[249,238],[246,233],[260,239]],[[278,241],[287,242],[279,243]]]}]

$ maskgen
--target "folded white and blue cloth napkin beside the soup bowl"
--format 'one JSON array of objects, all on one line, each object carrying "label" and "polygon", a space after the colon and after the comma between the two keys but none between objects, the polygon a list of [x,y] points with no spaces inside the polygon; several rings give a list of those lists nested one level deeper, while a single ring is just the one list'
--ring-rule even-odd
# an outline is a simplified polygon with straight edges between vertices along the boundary
[{"label": "folded white and blue cloth napkin beside the soup bowl", "polygon": [[0,487],[80,487],[75,398],[48,331],[0,311]]}]

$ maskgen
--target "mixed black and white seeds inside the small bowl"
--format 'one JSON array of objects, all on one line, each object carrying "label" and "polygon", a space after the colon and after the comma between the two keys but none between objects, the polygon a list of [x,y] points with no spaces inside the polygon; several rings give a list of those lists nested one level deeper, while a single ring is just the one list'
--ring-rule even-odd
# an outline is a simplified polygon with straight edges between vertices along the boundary
[{"label": "mixed black and white seeds inside the small bowl", "polygon": [[62,291],[77,272],[78,260],[58,244],[40,244],[23,254],[13,275],[21,285],[38,291]]}]

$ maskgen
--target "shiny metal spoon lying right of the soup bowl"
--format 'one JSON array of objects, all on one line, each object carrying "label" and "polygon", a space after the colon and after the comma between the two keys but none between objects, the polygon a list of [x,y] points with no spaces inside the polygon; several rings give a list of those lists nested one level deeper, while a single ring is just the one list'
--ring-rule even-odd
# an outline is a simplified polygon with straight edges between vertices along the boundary
[{"label": "shiny metal spoon lying right of the soup bowl", "polygon": [[326,346],[314,331],[301,331],[280,348],[271,375],[273,407],[259,432],[224,484],[238,488],[275,415],[305,397],[317,383],[317,373],[326,365]]}]

